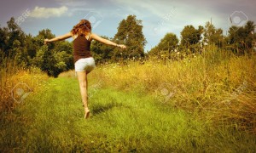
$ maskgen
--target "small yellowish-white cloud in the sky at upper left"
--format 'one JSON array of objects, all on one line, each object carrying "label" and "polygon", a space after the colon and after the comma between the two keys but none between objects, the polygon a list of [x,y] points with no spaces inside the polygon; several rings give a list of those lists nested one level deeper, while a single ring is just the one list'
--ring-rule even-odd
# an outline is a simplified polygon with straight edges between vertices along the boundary
[{"label": "small yellowish-white cloud in the sky at upper left", "polygon": [[50,17],[60,17],[61,15],[67,13],[68,8],[62,6],[61,8],[40,8],[36,6],[30,16],[34,18],[50,18]]}]

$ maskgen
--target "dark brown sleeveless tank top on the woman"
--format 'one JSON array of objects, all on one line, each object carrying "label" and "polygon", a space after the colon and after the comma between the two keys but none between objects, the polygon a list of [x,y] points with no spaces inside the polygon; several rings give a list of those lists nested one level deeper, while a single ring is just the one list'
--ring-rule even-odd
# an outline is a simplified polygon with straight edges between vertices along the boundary
[{"label": "dark brown sleeveless tank top on the woman", "polygon": [[73,60],[76,62],[79,59],[89,57],[92,57],[90,54],[90,41],[84,35],[79,35],[73,40]]}]

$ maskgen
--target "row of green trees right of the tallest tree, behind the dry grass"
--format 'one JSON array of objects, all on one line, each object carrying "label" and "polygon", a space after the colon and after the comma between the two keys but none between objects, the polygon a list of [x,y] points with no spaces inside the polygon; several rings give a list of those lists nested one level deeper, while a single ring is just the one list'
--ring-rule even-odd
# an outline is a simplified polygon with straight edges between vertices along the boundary
[{"label": "row of green trees right of the tallest tree, behind the dry grass", "polygon": [[180,41],[177,35],[167,33],[148,54],[158,58],[164,55],[170,59],[169,55],[174,52],[200,54],[206,46],[216,46],[221,50],[229,50],[235,54],[245,54],[255,49],[254,30],[255,25],[251,20],[247,21],[245,26],[231,26],[226,36],[224,36],[222,29],[216,28],[209,21],[206,26],[198,26],[198,28],[185,26],[180,33]]}]

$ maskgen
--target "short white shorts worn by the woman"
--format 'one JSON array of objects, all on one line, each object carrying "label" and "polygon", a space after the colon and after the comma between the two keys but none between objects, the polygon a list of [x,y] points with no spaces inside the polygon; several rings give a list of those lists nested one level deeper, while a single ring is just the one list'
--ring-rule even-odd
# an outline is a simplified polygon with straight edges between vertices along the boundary
[{"label": "short white shorts worn by the woman", "polygon": [[75,71],[86,71],[87,73],[96,68],[95,60],[92,57],[79,59],[74,65]]}]

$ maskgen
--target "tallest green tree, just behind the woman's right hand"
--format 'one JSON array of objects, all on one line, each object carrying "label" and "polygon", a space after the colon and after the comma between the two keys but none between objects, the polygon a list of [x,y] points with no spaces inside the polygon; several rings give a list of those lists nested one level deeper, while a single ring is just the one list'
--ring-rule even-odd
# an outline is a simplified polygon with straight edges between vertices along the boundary
[{"label": "tallest green tree, just behind the woman's right hand", "polygon": [[113,50],[113,59],[143,57],[146,38],[143,35],[142,20],[137,20],[136,15],[129,15],[126,20],[119,23],[118,32],[113,37],[118,43],[125,43],[128,47],[120,53],[118,48]]}]

